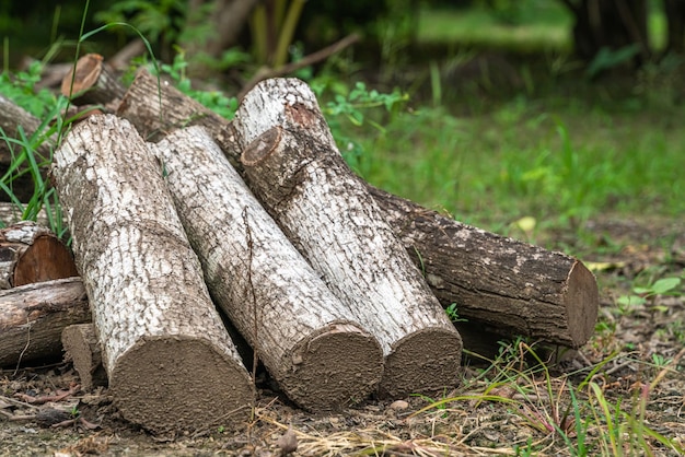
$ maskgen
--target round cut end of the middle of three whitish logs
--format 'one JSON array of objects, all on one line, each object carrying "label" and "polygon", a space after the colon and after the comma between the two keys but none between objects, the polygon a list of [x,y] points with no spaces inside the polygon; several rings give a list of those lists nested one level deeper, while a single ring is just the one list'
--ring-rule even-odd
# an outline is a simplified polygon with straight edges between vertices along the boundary
[{"label": "round cut end of the middle of three whitish logs", "polygon": [[288,397],[310,411],[332,410],[364,399],[383,373],[383,351],[371,335],[336,324],[299,344],[292,375],[281,380]]}]

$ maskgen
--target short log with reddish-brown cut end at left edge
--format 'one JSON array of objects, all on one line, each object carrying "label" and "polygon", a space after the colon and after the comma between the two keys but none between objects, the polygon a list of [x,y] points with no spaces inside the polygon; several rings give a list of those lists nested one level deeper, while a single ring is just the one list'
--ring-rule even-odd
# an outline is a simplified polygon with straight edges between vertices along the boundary
[{"label": "short log with reddish-brown cut end at left edge", "polygon": [[0,230],[0,289],[79,276],[71,251],[31,221]]}]

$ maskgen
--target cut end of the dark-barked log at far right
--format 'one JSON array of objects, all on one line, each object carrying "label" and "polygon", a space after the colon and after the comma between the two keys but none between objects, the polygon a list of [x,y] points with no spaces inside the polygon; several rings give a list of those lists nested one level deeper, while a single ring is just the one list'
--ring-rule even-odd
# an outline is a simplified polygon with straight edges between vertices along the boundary
[{"label": "cut end of the dark-barked log at far right", "polygon": [[568,313],[570,347],[583,345],[594,331],[600,306],[597,282],[590,270],[576,261],[568,278],[566,312]]}]

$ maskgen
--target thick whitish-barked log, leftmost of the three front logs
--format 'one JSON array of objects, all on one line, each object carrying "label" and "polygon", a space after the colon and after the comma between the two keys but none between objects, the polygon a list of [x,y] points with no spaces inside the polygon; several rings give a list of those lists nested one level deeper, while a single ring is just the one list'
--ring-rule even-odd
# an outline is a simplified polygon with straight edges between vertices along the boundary
[{"label": "thick whitish-barked log, leftmost of the three front logs", "polygon": [[254,386],[133,127],[89,117],[53,173],[123,417],[154,433],[244,425]]}]

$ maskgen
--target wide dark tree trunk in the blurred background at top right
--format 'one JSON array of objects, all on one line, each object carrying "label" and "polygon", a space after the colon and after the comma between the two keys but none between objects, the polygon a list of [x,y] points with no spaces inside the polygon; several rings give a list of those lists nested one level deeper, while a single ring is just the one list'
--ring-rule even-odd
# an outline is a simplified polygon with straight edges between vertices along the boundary
[{"label": "wide dark tree trunk in the blurred background at top right", "polygon": [[574,16],[573,43],[578,56],[592,60],[602,48],[639,46],[635,63],[651,54],[646,0],[562,0]]}]

